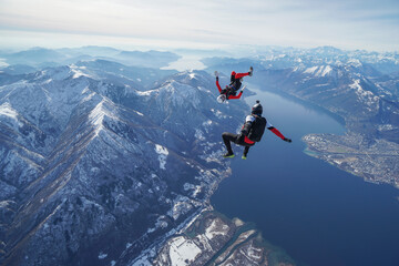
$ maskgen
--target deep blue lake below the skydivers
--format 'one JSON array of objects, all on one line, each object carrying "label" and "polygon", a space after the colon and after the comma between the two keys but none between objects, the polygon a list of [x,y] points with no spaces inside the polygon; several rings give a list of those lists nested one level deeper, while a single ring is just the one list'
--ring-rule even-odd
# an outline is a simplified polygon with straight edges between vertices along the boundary
[{"label": "deep blue lake below the skydivers", "polygon": [[399,190],[306,155],[301,136],[344,134],[344,125],[317,108],[256,92],[248,104],[260,100],[264,116],[293,143],[266,131],[246,161],[233,145],[233,175],[213,195],[215,209],[254,222],[300,265],[399,265]]}]

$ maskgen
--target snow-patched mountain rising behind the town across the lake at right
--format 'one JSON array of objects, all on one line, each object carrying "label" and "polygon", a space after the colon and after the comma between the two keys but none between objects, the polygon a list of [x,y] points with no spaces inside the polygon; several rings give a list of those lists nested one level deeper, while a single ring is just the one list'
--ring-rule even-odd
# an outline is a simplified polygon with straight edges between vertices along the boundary
[{"label": "snow-patched mountain rising behind the town across the lake at right", "polygon": [[377,73],[351,60],[340,65],[263,70],[254,80],[340,115],[349,130],[399,142],[399,80]]}]

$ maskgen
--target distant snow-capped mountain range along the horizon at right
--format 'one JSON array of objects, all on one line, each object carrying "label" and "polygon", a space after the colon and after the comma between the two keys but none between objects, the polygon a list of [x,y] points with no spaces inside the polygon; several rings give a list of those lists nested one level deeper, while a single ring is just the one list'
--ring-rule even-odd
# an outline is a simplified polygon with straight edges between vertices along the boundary
[{"label": "distant snow-capped mountain range along the horizon at right", "polygon": [[265,48],[254,49],[252,57],[225,58],[215,57],[203,59],[203,63],[209,70],[227,70],[247,68],[248,63],[255,70],[282,70],[290,68],[313,68],[316,65],[359,65],[371,66],[374,71],[382,74],[391,74],[399,71],[398,52],[368,52],[368,51],[344,51],[332,47],[319,47],[315,49],[297,48]]}]

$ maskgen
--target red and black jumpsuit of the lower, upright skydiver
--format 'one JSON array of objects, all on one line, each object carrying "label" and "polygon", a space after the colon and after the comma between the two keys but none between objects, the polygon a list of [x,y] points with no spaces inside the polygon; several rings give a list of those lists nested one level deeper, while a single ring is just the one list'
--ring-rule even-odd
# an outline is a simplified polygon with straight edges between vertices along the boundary
[{"label": "red and black jumpsuit of the lower, upright skydiver", "polygon": [[[250,131],[250,126],[252,126],[253,122],[255,121],[255,119],[256,117],[253,114],[246,116],[245,123],[244,123],[244,125],[243,125],[243,127],[241,130],[241,134],[234,134],[234,133],[229,133],[229,132],[224,132],[222,134],[223,142],[225,143],[228,153],[233,154],[231,142],[234,142],[237,145],[245,146],[244,156],[247,155],[247,153],[249,151],[249,147],[255,144],[255,142],[249,140],[248,136],[247,136],[249,131]],[[275,133],[282,140],[285,139],[285,136],[267,121],[266,121],[266,129],[268,129],[269,131]]]}]

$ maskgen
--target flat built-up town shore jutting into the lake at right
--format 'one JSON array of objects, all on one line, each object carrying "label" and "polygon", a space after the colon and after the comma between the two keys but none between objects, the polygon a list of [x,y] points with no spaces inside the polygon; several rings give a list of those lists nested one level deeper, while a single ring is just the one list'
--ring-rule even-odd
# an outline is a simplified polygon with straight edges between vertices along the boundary
[{"label": "flat built-up town shore jutting into the lake at right", "polygon": [[[303,136],[307,145],[304,153],[323,160],[347,173],[374,184],[390,184],[399,188],[399,145],[385,140],[376,140],[370,146],[356,145],[362,136],[356,133],[346,135],[308,134]],[[351,146],[352,145],[352,146]]]}]

